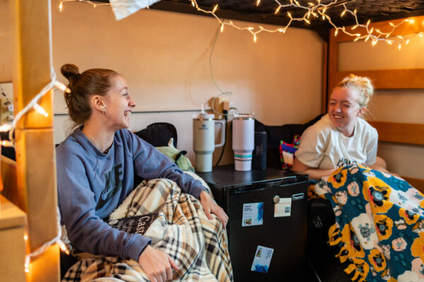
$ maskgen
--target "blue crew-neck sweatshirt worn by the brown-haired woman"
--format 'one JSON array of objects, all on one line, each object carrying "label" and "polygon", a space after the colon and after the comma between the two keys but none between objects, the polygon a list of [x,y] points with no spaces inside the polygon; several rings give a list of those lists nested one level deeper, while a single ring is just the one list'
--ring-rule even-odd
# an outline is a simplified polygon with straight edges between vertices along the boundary
[{"label": "blue crew-neck sweatshirt worn by the brown-haired woman", "polygon": [[[107,218],[134,190],[134,175],[168,178],[199,198],[205,189],[129,130],[118,130],[107,154],[76,129],[56,149],[61,223],[74,247],[93,255],[135,259],[151,240],[111,228]],[[136,185],[138,183],[135,183]]]}]

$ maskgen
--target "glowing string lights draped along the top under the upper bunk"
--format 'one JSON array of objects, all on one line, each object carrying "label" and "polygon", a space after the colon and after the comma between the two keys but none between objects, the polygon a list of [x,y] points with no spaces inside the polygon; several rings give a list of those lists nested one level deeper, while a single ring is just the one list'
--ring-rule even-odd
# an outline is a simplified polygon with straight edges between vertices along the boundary
[{"label": "glowing string lights draped along the top under the upper bunk", "polygon": [[[339,0],[331,1],[328,4],[322,4],[320,0],[317,0],[316,3],[308,2],[307,3],[308,6],[303,6],[297,0],[290,0],[290,3],[288,3],[288,4],[281,4],[280,1],[274,0],[277,4],[276,9],[274,11],[275,14],[279,13],[281,8],[288,8],[288,7],[293,7],[293,8],[297,8],[297,9],[300,8],[300,9],[305,10],[305,14],[301,18],[293,18],[292,14],[290,12],[287,12],[287,16],[288,16],[288,18],[290,18],[288,23],[284,27],[278,27],[278,28],[275,28],[275,29],[267,29],[267,28],[260,27],[260,26],[255,28],[255,27],[245,27],[245,26],[236,25],[234,22],[232,22],[232,20],[224,20],[224,19],[221,19],[218,16],[216,16],[216,11],[218,10],[218,4],[214,5],[211,11],[208,11],[208,10],[201,8],[197,4],[196,0],[190,0],[190,1],[191,1],[192,6],[194,8],[196,8],[197,11],[200,11],[202,13],[211,14],[211,16],[216,18],[216,20],[218,20],[218,23],[220,24],[221,32],[223,32],[224,26],[228,25],[228,26],[231,26],[231,27],[233,27],[237,30],[244,30],[244,31],[250,32],[250,34],[253,37],[254,42],[257,42],[258,35],[261,32],[270,32],[270,33],[283,32],[283,33],[285,33],[287,28],[290,27],[290,25],[293,23],[294,20],[300,21],[300,22],[305,22],[306,24],[309,25],[311,23],[311,15],[314,18],[319,18],[319,16],[321,16],[322,20],[328,20],[329,24],[332,27],[334,27],[334,29],[335,29],[335,31],[334,31],[335,36],[337,36],[338,32],[341,31],[348,36],[355,37],[355,39],[353,39],[354,41],[358,41],[360,39],[364,39],[365,41],[370,40],[372,46],[375,46],[375,44],[377,44],[377,42],[386,42],[387,44],[397,44],[398,48],[400,50],[401,44],[408,44],[411,38],[416,37],[417,35],[419,37],[424,36],[424,32],[416,32],[416,33],[409,35],[408,37],[402,37],[402,38],[396,37],[396,39],[389,39],[388,37],[390,37],[390,35],[394,32],[394,30],[396,30],[397,27],[399,27],[400,25],[403,25],[404,23],[413,22],[413,20],[405,19],[405,20],[402,20],[400,23],[398,23],[396,25],[394,25],[393,23],[389,23],[391,30],[389,30],[389,32],[382,32],[382,31],[380,31],[378,29],[374,29],[374,28],[369,29],[368,26],[371,23],[370,20],[368,20],[365,25],[360,24],[358,22],[358,16],[357,16],[357,13],[356,13],[356,9],[351,11],[350,9],[348,9],[346,7],[346,4],[342,4],[343,11],[341,12],[340,16],[346,17],[346,14],[350,14],[351,16],[353,16],[355,18],[355,25],[352,27],[352,30],[354,30],[357,27],[364,27],[365,28],[364,34],[349,32],[346,27],[337,26],[336,24],[334,24],[334,22],[331,20],[331,17],[328,14],[326,14],[326,11],[329,8],[331,8],[332,6],[335,6],[336,4],[338,4]],[[253,0],[253,1],[254,1],[255,6],[259,6],[261,4],[261,0]],[[84,2],[84,3],[88,3],[88,4],[93,5],[93,7],[100,6],[100,5],[109,5],[110,6],[110,3],[98,4],[98,3],[94,3],[93,1],[89,1],[89,0],[83,0],[83,1],[82,0],[60,0],[59,2],[60,2],[59,3],[59,11],[62,11],[62,8],[63,8],[63,5],[64,5],[65,2]],[[340,5],[340,4],[338,4],[338,5]]]}]

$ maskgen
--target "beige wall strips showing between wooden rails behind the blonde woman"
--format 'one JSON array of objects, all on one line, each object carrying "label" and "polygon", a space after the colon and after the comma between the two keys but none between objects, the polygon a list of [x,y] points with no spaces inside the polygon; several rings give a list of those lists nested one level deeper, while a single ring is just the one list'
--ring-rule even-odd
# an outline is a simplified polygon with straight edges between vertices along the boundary
[{"label": "beige wall strips showing between wooden rails behind the blonde woman", "polygon": [[[424,68],[424,40],[414,37],[408,45],[397,46],[369,42],[339,45],[340,71]],[[424,90],[377,90],[370,111],[374,121],[424,123]],[[379,142],[377,154],[387,161],[389,171],[402,176],[424,178],[424,147]]]}]

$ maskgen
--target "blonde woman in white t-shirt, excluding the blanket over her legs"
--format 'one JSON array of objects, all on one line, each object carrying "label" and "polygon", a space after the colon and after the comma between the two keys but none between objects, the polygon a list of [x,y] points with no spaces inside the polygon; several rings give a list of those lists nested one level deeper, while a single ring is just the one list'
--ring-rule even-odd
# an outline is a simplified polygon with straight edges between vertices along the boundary
[{"label": "blonde woman in white t-shirt, excluding the blanket over her legs", "polygon": [[377,157],[377,130],[361,117],[372,94],[368,78],[349,75],[341,80],[331,92],[328,113],[303,133],[293,171],[315,180],[348,164],[366,164],[388,173]]}]

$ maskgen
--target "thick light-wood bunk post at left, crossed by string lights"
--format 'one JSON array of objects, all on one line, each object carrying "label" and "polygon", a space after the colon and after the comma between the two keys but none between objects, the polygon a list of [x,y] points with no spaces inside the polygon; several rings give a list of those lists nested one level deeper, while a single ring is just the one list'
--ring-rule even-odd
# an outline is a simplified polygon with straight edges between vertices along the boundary
[{"label": "thick light-wood bunk post at left, crossed by string lights", "polygon": [[[13,93],[18,113],[51,80],[50,0],[13,0],[16,54]],[[16,128],[18,206],[28,216],[28,251],[57,235],[56,157],[52,91],[38,103],[49,116],[29,111]],[[27,281],[59,281],[59,248],[49,247],[32,259]]]}]

